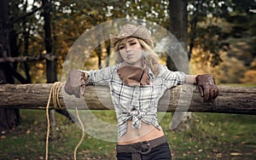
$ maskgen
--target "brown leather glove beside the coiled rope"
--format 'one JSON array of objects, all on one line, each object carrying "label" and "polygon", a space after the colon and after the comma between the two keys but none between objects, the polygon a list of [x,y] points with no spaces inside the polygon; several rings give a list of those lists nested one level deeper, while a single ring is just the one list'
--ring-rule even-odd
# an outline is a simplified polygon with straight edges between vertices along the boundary
[{"label": "brown leather glove beside the coiled rope", "polygon": [[74,94],[77,98],[80,98],[80,94],[84,95],[87,81],[87,73],[77,70],[70,71],[68,73],[67,83],[65,84],[64,89],[67,94]]}]

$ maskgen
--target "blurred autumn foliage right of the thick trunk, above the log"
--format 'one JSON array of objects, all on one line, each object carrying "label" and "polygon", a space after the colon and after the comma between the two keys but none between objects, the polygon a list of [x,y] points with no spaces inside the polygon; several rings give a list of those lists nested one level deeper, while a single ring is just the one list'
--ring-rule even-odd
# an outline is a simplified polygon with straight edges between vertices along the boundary
[{"label": "blurred autumn foliage right of the thick trunk, above the log", "polygon": [[212,73],[220,83],[248,83],[246,77],[254,77],[247,69],[256,55],[255,9],[253,0],[189,1],[195,74]]}]

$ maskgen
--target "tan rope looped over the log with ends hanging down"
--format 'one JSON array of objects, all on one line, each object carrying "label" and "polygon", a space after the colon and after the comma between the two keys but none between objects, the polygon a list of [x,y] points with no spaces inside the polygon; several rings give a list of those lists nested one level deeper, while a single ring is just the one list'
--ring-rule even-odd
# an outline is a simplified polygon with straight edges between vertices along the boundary
[{"label": "tan rope looped over the log with ends hanging down", "polygon": [[[62,86],[61,82],[55,82],[55,83],[53,83],[53,85],[50,89],[50,92],[49,92],[49,98],[48,98],[48,102],[47,102],[47,106],[46,106],[47,133],[46,133],[46,140],[45,140],[45,160],[48,160],[49,127],[50,127],[50,124],[49,124],[49,103],[50,103],[50,100],[52,99],[55,109],[65,109],[66,108],[66,107],[61,106],[61,102],[59,100],[59,94],[60,94],[60,91],[61,91],[61,86]],[[78,116],[78,119],[79,119],[79,123],[82,127],[83,134],[82,134],[81,139],[79,140],[79,144],[75,147],[75,149],[73,151],[74,160],[77,159],[76,158],[77,157],[76,156],[77,150],[78,150],[79,146],[81,145],[81,143],[84,140],[84,125],[83,125],[83,123],[82,123],[82,121],[79,117],[78,108],[76,108],[76,113],[77,113],[77,116]]]}]

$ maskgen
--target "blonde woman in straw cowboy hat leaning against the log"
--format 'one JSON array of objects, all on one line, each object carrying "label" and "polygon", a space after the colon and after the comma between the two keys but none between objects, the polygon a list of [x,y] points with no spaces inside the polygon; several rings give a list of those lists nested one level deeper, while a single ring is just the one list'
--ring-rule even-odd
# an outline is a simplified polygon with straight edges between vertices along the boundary
[{"label": "blonde woman in straw cowboy hat leaning against the log", "polygon": [[160,65],[151,36],[144,26],[125,25],[118,36],[110,35],[117,65],[96,71],[71,71],[67,94],[79,97],[85,84],[108,83],[118,119],[118,159],[172,159],[157,121],[157,104],[166,89],[196,83],[205,101],[218,96],[211,75],[185,75]]}]

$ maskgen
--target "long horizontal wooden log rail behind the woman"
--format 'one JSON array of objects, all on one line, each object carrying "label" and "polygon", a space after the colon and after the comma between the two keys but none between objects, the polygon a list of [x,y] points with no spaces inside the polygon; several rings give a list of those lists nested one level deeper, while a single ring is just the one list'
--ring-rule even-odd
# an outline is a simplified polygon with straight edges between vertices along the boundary
[{"label": "long horizontal wooden log rail behind the woman", "polygon": [[[0,108],[45,109],[52,83],[0,85]],[[62,84],[63,85],[63,84]],[[255,87],[219,86],[219,95],[212,102],[204,102],[195,86],[184,84],[167,89],[160,99],[158,111],[223,112],[236,114],[256,113]],[[113,109],[106,86],[87,86],[80,99],[67,95],[63,86],[59,94],[61,106],[67,109]],[[52,100],[49,109],[54,109]]]}]

